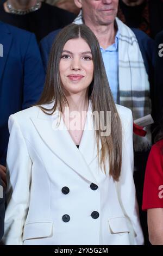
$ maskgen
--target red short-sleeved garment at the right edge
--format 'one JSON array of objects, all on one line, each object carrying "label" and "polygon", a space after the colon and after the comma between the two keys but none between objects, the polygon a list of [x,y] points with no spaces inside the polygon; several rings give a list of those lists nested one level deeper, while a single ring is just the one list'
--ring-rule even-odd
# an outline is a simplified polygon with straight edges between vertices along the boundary
[{"label": "red short-sleeved garment at the right edge", "polygon": [[142,210],[163,208],[163,139],[153,145],[148,157]]}]

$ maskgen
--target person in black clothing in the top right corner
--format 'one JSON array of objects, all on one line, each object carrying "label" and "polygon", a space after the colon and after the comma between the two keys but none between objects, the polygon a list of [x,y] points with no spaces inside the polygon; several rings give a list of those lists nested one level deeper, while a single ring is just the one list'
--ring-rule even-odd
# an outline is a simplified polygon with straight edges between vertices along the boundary
[{"label": "person in black clothing in the top right corner", "polygon": [[162,0],[120,0],[117,17],[152,38],[163,29]]}]

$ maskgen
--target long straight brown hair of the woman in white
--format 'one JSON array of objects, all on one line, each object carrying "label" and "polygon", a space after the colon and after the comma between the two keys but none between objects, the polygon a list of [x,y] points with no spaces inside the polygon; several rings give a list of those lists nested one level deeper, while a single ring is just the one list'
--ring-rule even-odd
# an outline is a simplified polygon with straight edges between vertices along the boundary
[{"label": "long straight brown hair of the woman in white", "polygon": [[[98,40],[87,26],[74,24],[68,25],[62,29],[55,38],[49,56],[45,88],[41,99],[37,102],[37,106],[39,106],[46,114],[53,114],[57,108],[63,113],[64,107],[68,106],[60,80],[59,63],[66,42],[76,38],[83,38],[92,52],[94,71],[93,81],[89,87],[89,100],[92,103],[92,112],[97,111],[100,113],[103,111],[105,117],[104,120],[106,120],[106,113],[108,111],[111,113],[110,136],[101,136],[101,132],[103,132],[101,127],[99,127],[99,130],[95,131],[99,164],[101,167],[104,167],[106,173],[106,161],[109,161],[109,174],[114,180],[118,181],[121,174],[122,164],[121,120],[112,98]],[[41,106],[51,102],[54,102],[52,109],[47,109]],[[95,126],[96,120],[93,122]],[[99,152],[100,140],[102,144],[101,152]]]}]

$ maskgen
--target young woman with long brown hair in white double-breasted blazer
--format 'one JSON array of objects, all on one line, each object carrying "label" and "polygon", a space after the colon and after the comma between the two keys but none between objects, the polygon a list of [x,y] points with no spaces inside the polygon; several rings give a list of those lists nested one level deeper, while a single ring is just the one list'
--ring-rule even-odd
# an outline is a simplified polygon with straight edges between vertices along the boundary
[{"label": "young woman with long brown hair in white double-breasted blazer", "polygon": [[58,34],[40,101],[9,130],[7,245],[143,243],[131,111],[115,106],[89,28]]}]

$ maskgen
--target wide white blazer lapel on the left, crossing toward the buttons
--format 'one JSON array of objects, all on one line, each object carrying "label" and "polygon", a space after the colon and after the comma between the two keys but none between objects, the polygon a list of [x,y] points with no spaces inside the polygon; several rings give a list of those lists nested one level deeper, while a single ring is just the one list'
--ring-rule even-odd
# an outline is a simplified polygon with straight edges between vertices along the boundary
[{"label": "wide white blazer lapel on the left, crossing toward the buttons", "polygon": [[[89,154],[92,157],[92,152],[88,151],[89,149],[92,151],[91,145],[89,145],[89,148],[86,150],[88,156],[83,154],[83,150],[86,148],[84,143],[88,142],[89,144],[89,141],[86,141],[88,135],[84,135],[85,142],[82,142],[83,145],[80,152],[80,147],[78,149],[74,144],[62,118],[58,125],[58,114],[58,111],[55,111],[53,115],[47,115],[40,110],[38,117],[31,118],[31,120],[47,147],[51,149],[59,159],[65,162],[67,166],[71,167],[76,173],[83,176],[86,180],[97,184],[96,178],[87,164],[89,162]],[[95,155],[93,154],[93,157],[94,156]]]}]

